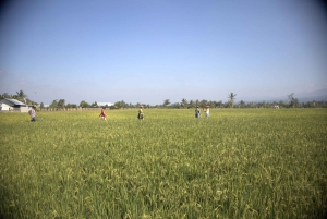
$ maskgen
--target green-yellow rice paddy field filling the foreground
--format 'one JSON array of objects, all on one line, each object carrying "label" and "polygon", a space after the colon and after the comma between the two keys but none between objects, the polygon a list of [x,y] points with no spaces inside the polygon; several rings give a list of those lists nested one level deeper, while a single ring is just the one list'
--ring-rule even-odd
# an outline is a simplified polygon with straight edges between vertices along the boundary
[{"label": "green-yellow rice paddy field filling the foreground", "polygon": [[327,109],[0,113],[0,218],[325,218]]}]

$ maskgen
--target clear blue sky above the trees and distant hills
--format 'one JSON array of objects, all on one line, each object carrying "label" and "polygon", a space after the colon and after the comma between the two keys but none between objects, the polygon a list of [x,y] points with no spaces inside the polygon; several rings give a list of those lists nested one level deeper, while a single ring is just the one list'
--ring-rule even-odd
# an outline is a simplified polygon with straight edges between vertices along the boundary
[{"label": "clear blue sky above the trees and distant hills", "polygon": [[160,105],[327,88],[327,14],[306,0],[12,1],[0,93]]}]

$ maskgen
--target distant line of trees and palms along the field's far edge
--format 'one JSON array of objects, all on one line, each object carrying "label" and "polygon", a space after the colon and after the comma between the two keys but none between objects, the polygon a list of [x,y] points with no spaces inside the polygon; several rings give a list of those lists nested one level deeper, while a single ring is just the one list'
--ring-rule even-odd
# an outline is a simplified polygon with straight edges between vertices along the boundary
[{"label": "distant line of trees and palms along the field's far edge", "polygon": [[223,102],[222,100],[216,101],[216,100],[187,100],[183,98],[180,102],[171,102],[170,99],[165,99],[162,105],[148,105],[148,104],[141,104],[136,102],[128,104],[123,100],[114,102],[112,106],[98,106],[98,104],[95,101],[93,104],[88,104],[85,100],[82,100],[80,105],[76,104],[70,104],[64,99],[55,99],[49,106],[45,106],[44,102],[37,104],[36,101],[33,101],[28,98],[28,95],[25,94],[23,90],[16,92],[14,95],[10,95],[8,93],[3,93],[0,95],[0,99],[4,98],[11,98],[16,99],[22,102],[25,102],[26,105],[37,105],[40,109],[43,108],[98,108],[98,107],[106,107],[110,109],[128,109],[128,108],[138,108],[140,106],[144,106],[145,108],[171,108],[171,109],[187,109],[187,108],[195,108],[196,106],[199,106],[201,108],[205,108],[206,106],[209,106],[210,108],[272,108],[278,106],[279,108],[327,108],[327,101],[306,101],[306,102],[300,102],[298,98],[294,97],[294,93],[291,93],[287,96],[288,99],[286,101],[261,101],[261,102],[245,102],[243,100],[235,101],[237,94],[230,93],[228,94],[227,98],[228,101]]}]

